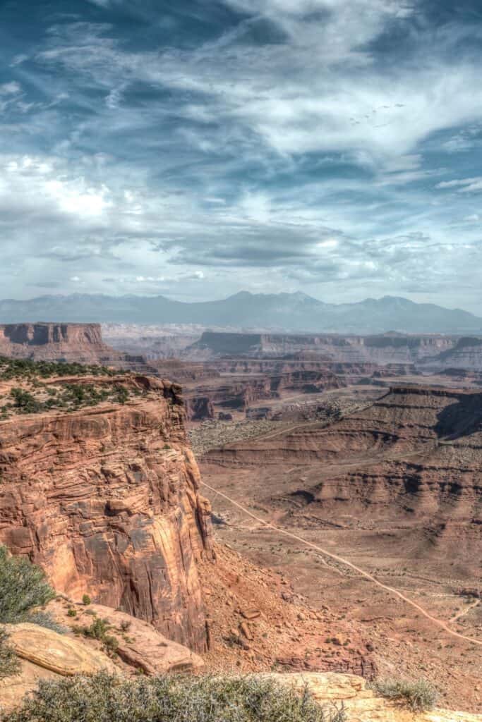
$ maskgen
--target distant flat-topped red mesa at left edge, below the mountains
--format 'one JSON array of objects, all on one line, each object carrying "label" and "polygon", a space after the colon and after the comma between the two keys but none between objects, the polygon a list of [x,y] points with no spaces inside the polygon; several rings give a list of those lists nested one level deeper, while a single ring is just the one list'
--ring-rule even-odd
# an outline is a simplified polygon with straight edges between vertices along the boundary
[{"label": "distant flat-topped red mesa at left edge, below the mountains", "polygon": [[42,361],[119,362],[99,323],[11,323],[0,326],[0,355]]}]

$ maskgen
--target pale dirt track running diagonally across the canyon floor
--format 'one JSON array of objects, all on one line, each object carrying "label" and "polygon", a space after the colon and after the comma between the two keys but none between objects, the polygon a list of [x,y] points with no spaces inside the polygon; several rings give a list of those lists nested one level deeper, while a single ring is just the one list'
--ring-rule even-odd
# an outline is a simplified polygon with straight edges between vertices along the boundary
[{"label": "pale dirt track running diagonally across the canyon floor", "polygon": [[[306,547],[311,547],[311,549],[316,549],[317,552],[321,552],[327,557],[330,557],[330,559],[334,559],[336,562],[340,562],[340,564],[345,565],[346,567],[350,567],[350,569],[353,569],[356,573],[361,575],[362,577],[370,580],[372,583],[376,584],[381,589],[384,589],[384,591],[387,591],[388,593],[392,594],[392,596],[396,596],[398,599],[401,599],[405,602],[405,604],[409,604],[413,607],[413,609],[416,609],[417,612],[420,612],[420,614],[423,615],[423,617],[426,617],[426,619],[429,619],[434,625],[439,627],[440,629],[444,630],[448,635],[452,635],[452,637],[457,637],[458,639],[465,640],[465,642],[470,642],[471,644],[476,644],[480,647],[482,647],[482,640],[474,639],[473,637],[467,637],[466,635],[460,634],[460,632],[455,632],[455,630],[450,629],[447,622],[444,622],[442,619],[437,619],[436,617],[433,617],[429,612],[426,611],[426,609],[423,609],[423,606],[420,606],[416,603],[416,601],[413,601],[412,599],[409,599],[408,596],[405,596],[405,594],[401,593],[400,591],[397,591],[397,589],[394,589],[393,587],[387,586],[386,584],[382,584],[382,582],[379,582],[374,576],[366,572],[365,570],[361,569],[361,567],[357,567],[355,564],[352,564],[352,562],[349,562],[347,559],[344,559],[343,557],[339,557],[337,554],[332,554],[332,552],[328,552],[327,549],[324,549],[323,547],[319,547],[318,544],[313,544],[311,541],[308,541],[307,539],[304,539],[302,536],[298,536],[297,534],[292,534],[291,531],[286,531],[286,529],[281,529],[280,526],[275,526],[275,524],[270,523],[269,521],[264,521],[259,516],[256,516],[256,514],[253,514],[249,509],[246,509],[243,505],[239,504],[236,500],[231,499],[231,497],[228,497],[227,495],[223,494],[223,492],[218,491],[214,487],[211,487],[210,484],[206,484],[206,482],[201,482],[203,487],[206,487],[207,489],[210,489],[215,494],[218,494],[220,497],[223,497],[226,501],[231,503],[233,506],[236,506],[238,509],[240,509],[242,512],[247,514],[247,516],[250,516],[255,521],[262,524],[262,526],[267,527],[267,529],[272,529],[273,531],[277,531],[278,534],[283,534],[283,536],[289,536],[291,539],[296,539],[296,541],[301,541],[302,544],[306,544]],[[455,621],[453,618],[450,621]]]}]

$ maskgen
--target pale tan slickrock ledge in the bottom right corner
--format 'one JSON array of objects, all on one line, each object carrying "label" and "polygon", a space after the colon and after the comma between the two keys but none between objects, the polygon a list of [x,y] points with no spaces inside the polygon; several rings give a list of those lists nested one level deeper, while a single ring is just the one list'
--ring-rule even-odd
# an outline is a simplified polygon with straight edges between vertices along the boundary
[{"label": "pale tan slickrock ledge in the bottom right corner", "polygon": [[281,684],[291,684],[302,692],[308,687],[320,705],[330,709],[343,708],[350,722],[480,722],[482,715],[436,709],[412,713],[403,705],[395,705],[377,697],[367,689],[366,680],[352,674],[270,674],[267,677]]}]

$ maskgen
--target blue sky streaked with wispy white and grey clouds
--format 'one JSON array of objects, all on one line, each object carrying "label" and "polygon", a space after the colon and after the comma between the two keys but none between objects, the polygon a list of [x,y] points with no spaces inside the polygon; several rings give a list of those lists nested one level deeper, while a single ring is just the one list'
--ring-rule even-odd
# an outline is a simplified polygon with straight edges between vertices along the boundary
[{"label": "blue sky streaked with wispy white and grey clouds", "polygon": [[480,0],[0,0],[0,297],[482,315]]}]

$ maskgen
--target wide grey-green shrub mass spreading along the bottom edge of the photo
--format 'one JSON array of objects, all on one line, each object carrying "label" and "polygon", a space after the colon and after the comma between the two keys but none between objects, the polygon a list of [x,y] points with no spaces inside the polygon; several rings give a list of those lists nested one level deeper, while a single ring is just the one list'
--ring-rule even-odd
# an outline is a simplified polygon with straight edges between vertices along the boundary
[{"label": "wide grey-green shrub mass spreading along the bottom edge of the photo", "polygon": [[163,676],[121,680],[108,674],[42,681],[4,722],[345,722],[259,677]]}]

